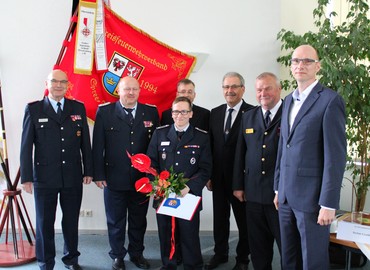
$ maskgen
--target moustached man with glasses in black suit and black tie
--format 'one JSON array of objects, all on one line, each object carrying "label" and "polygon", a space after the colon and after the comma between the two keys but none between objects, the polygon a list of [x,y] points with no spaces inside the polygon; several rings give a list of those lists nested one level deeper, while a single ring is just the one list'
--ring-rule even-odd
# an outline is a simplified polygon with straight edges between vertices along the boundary
[{"label": "moustached man with glasses in black suit and black tie", "polygon": [[244,102],[244,78],[236,72],[227,73],[222,81],[226,104],[211,110],[209,134],[213,156],[213,171],[207,188],[213,197],[213,236],[215,255],[205,265],[214,269],[228,261],[230,235],[230,206],[239,230],[234,270],[247,269],[249,245],[245,202],[240,202],[232,191],[233,165],[242,113],[253,108]]}]

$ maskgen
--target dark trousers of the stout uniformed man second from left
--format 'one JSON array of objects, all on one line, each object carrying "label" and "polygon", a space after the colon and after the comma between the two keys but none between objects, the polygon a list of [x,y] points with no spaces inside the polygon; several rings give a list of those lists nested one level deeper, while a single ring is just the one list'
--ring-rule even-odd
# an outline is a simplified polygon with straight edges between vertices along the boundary
[{"label": "dark trousers of the stout uniformed man second from left", "polygon": [[[138,257],[144,251],[146,214],[149,198],[132,191],[117,191],[104,188],[105,213],[107,217],[108,237],[112,259]],[[125,248],[126,223],[128,221],[128,248]]]}]

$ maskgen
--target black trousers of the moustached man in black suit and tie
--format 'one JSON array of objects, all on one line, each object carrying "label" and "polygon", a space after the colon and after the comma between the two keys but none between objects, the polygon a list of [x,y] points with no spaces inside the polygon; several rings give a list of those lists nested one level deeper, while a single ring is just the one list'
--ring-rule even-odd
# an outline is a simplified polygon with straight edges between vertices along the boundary
[{"label": "black trousers of the moustached man in black suit and tie", "polygon": [[247,233],[247,218],[245,202],[240,202],[231,191],[231,188],[213,185],[213,237],[215,240],[214,252],[219,258],[228,257],[230,235],[230,211],[234,212],[236,225],[239,231],[239,241],[236,247],[236,261],[248,263],[250,254]]}]

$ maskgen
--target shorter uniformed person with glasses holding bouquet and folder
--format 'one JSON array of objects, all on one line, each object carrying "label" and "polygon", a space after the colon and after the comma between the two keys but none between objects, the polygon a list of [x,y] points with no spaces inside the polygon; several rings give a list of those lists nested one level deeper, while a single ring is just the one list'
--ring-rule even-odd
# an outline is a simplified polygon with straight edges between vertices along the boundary
[{"label": "shorter uniformed person with glasses holding bouquet and folder", "polygon": [[[189,124],[192,117],[191,102],[186,97],[178,97],[172,105],[174,124],[158,128],[148,147],[148,156],[152,166],[158,172],[169,170],[184,173],[190,180],[181,191],[202,196],[202,190],[211,176],[212,158],[209,137],[206,131]],[[182,134],[182,135],[181,135]],[[176,218],[176,230],[179,230],[180,245],[184,269],[203,268],[203,259],[199,240],[199,215],[202,206],[198,206],[191,221]],[[176,257],[170,259],[171,217],[157,214],[162,268],[176,269]]]}]

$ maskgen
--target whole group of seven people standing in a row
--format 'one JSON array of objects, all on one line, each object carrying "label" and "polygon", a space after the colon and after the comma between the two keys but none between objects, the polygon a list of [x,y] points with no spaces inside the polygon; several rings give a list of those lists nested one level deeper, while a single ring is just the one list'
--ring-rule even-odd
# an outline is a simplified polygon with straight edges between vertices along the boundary
[{"label": "whole group of seven people standing in a row", "polygon": [[[124,258],[149,269],[143,256],[148,199],[136,192],[140,173],[131,154],[147,153],[157,171],[174,168],[190,180],[181,191],[212,191],[214,255],[203,263],[199,214],[176,219],[175,256],[170,256],[171,220],[157,214],[161,269],[215,269],[229,259],[230,213],[239,232],[234,270],[272,269],[276,242],[282,269],[328,269],[329,225],[339,207],[345,167],[345,112],[342,98],[320,85],[320,61],[309,45],[292,54],[297,89],[281,100],[279,79],[264,72],[255,81],[260,106],[243,100],[244,78],[227,73],[226,103],[211,111],[196,106],[195,85],[177,85],[171,109],[160,118],[156,107],[138,102],[132,77],[118,85],[119,100],[99,106],[92,150],[83,104],[64,98],[68,78],[54,70],[49,95],[27,105],[21,144],[21,182],[35,193],[36,256],[40,269],[55,265],[54,221],[58,197],[63,212],[64,255],[68,269],[78,263],[78,217],[82,183],[104,191],[112,269]],[[160,126],[162,124],[162,126]],[[329,135],[330,133],[330,135]],[[125,247],[126,224],[128,246]]]}]

